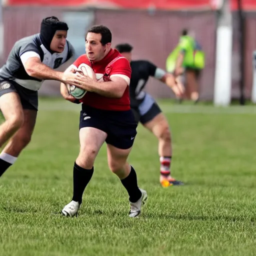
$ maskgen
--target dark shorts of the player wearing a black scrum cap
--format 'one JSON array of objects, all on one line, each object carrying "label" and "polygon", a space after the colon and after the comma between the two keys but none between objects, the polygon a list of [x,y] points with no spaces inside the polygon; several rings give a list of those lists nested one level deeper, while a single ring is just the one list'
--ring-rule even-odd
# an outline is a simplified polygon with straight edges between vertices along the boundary
[{"label": "dark shorts of the player wearing a black scrum cap", "polygon": [[38,93],[22,87],[12,80],[0,80],[0,96],[9,92],[17,92],[23,109],[37,110]]}]

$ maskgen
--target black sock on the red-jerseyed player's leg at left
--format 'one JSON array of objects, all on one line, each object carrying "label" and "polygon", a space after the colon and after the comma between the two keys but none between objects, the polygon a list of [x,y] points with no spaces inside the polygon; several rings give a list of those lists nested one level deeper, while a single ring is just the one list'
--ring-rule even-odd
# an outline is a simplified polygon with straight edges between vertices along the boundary
[{"label": "black sock on the red-jerseyed player's leg at left", "polygon": [[91,169],[84,169],[74,162],[73,168],[73,197],[72,200],[81,203],[82,194],[89,183],[93,174],[93,167]]}]

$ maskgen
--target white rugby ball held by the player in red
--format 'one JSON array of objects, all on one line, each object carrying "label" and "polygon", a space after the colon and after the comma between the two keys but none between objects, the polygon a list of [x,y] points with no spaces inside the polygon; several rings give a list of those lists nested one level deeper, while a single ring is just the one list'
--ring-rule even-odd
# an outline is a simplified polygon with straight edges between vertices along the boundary
[{"label": "white rugby ball held by the player in red", "polygon": [[[77,67],[76,72],[82,73],[83,75],[86,75],[92,79],[96,79],[96,74],[94,73],[93,69],[85,63],[81,63]],[[79,87],[76,87],[75,85],[69,85],[69,84],[67,84],[67,89],[68,89],[69,94],[77,99],[82,98],[85,95],[85,93],[87,92],[84,89],[81,89]]]}]

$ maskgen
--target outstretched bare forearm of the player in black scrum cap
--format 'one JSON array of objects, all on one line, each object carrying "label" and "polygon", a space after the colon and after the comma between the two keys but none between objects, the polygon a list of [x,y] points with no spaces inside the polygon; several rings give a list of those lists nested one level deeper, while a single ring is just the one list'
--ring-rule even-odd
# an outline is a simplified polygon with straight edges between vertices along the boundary
[{"label": "outstretched bare forearm of the player in black scrum cap", "polygon": [[28,75],[42,80],[62,81],[62,72],[55,71],[43,63],[36,63],[26,68]]}]

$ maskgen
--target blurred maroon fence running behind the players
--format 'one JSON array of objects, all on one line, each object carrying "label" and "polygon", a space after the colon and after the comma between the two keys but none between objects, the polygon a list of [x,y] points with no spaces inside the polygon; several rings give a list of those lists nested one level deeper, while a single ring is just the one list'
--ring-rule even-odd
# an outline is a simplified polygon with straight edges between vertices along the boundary
[{"label": "blurred maroon fence running behind the players", "polygon": [[[84,33],[92,24],[104,24],[113,35],[112,45],[129,42],[133,48],[133,59],[148,59],[165,68],[165,59],[176,45],[180,30],[184,27],[194,30],[196,39],[206,54],[206,66],[200,80],[202,99],[213,98],[215,69],[215,32],[217,15],[215,11],[160,11],[160,10],[110,10],[110,9],[66,9],[47,6],[5,6],[2,10],[4,23],[4,56],[6,59],[13,43],[23,37],[39,32],[43,17],[56,15],[69,25],[68,39],[75,46],[76,53],[84,52]],[[233,12],[233,61],[232,97],[238,97],[239,37],[236,13]],[[245,96],[251,93],[252,51],[256,49],[256,13],[246,13],[246,57]],[[58,95],[58,82],[45,81],[39,90],[43,95]],[[170,90],[150,79],[146,90],[155,97],[173,97]]]}]

